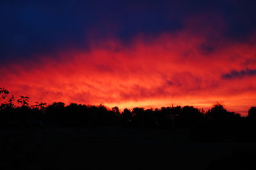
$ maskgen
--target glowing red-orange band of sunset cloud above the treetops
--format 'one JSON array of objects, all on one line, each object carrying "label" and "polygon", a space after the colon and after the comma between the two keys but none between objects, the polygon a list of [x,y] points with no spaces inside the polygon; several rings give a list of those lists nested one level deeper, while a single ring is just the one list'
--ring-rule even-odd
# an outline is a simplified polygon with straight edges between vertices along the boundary
[{"label": "glowing red-orange band of sunset cloud above the treetops", "polygon": [[[209,108],[222,102],[245,114],[256,105],[255,47],[225,39],[209,42],[204,34],[190,31],[138,36],[129,45],[92,42],[90,50],[67,49],[56,58],[38,55],[3,66],[0,84],[16,96],[28,95],[31,103]],[[225,79],[234,70],[244,76]]]}]

